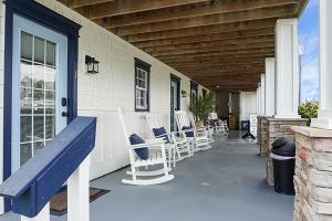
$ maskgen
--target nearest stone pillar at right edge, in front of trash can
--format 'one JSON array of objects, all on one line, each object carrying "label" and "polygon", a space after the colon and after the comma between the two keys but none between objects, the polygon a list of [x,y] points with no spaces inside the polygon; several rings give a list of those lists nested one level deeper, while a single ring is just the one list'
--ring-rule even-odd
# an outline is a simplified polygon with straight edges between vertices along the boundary
[{"label": "nearest stone pillar at right edge, in front of trash can", "polygon": [[293,221],[332,220],[332,131],[293,129],[297,133]]}]

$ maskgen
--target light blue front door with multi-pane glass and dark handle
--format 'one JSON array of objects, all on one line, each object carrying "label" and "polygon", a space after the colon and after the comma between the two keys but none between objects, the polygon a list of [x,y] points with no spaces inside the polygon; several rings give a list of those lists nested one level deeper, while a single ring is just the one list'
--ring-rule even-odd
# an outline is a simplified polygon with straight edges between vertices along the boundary
[{"label": "light blue front door with multi-pane glass and dark handle", "polygon": [[13,15],[12,172],[66,125],[68,38]]}]

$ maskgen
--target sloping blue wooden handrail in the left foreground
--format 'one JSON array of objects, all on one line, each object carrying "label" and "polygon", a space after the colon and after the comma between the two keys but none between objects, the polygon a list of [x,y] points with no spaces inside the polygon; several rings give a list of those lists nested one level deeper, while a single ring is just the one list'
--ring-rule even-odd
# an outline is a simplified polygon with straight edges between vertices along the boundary
[{"label": "sloping blue wooden handrail in the left foreground", "polygon": [[14,213],[35,217],[95,145],[96,118],[76,117],[0,186]]}]

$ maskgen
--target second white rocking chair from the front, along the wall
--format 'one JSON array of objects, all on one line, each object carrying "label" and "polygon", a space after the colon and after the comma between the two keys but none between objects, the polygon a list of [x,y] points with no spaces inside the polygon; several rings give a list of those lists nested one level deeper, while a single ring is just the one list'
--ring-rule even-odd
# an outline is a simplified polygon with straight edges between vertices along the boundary
[{"label": "second white rocking chair from the front, along the wall", "polygon": [[[149,129],[153,133],[154,128],[160,128],[163,127],[163,125],[160,124],[159,117],[157,115],[146,115],[146,120],[148,123]],[[165,127],[164,127],[165,128]],[[179,136],[177,136],[177,134]],[[166,144],[167,146],[172,146],[174,148],[174,156],[173,156],[173,164],[175,167],[175,161],[179,161],[183,160],[185,157],[191,157],[193,152],[190,149],[190,145],[188,144],[187,139],[186,139],[186,135],[183,131],[173,131],[173,133],[167,133],[165,134],[169,140],[168,144]],[[164,137],[165,135],[159,135],[159,137]],[[156,138],[159,138],[156,137]],[[168,155],[169,157],[169,155]]]}]

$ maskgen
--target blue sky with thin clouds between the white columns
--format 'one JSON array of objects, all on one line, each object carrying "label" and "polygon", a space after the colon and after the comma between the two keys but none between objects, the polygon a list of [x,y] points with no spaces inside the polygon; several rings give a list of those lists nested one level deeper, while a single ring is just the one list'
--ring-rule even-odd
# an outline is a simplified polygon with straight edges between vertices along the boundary
[{"label": "blue sky with thin clouds between the white columns", "polygon": [[310,0],[299,20],[301,102],[319,99],[319,0]]}]

